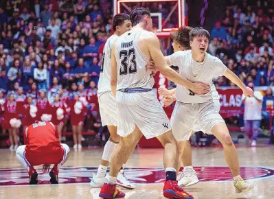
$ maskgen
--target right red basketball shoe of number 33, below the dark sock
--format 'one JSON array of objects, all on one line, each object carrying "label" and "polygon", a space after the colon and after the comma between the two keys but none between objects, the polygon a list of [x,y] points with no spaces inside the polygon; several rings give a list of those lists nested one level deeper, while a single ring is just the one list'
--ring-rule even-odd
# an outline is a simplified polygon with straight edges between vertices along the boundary
[{"label": "right red basketball shoe of number 33, below the dark sock", "polygon": [[165,185],[163,186],[163,196],[170,199],[193,199],[192,195],[187,194],[187,192],[183,191],[183,189],[177,185],[176,181],[172,180],[165,181]]}]

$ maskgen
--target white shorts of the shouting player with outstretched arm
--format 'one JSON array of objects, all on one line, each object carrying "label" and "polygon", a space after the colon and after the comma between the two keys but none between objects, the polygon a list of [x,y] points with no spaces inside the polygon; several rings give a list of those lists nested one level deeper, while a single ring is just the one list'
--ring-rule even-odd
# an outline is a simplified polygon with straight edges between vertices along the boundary
[{"label": "white shorts of the shouting player with outstretched arm", "polygon": [[211,134],[215,124],[225,122],[213,101],[201,104],[186,104],[177,101],[170,121],[176,141],[190,139],[195,124],[199,124],[199,128]]}]

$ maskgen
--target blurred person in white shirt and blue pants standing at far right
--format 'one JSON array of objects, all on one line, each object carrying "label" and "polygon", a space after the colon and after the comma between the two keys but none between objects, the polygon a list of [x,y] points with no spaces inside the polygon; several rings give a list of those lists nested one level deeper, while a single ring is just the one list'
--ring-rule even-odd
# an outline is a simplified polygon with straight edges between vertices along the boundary
[{"label": "blurred person in white shirt and blue pants standing at far right", "polygon": [[[250,82],[248,86],[254,90],[254,84]],[[257,145],[259,128],[262,120],[262,94],[259,91],[253,92],[253,97],[242,94],[242,104],[244,104],[244,129],[249,137],[251,146]]]}]

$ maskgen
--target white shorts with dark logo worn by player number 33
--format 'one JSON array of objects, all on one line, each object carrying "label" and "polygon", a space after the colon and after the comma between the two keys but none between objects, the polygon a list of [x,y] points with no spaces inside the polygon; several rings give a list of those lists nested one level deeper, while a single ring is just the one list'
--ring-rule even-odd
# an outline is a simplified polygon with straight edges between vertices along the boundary
[{"label": "white shorts with dark logo worn by player number 33", "polygon": [[126,137],[139,127],[146,139],[171,130],[170,121],[153,91],[123,93],[117,91],[117,134]]}]

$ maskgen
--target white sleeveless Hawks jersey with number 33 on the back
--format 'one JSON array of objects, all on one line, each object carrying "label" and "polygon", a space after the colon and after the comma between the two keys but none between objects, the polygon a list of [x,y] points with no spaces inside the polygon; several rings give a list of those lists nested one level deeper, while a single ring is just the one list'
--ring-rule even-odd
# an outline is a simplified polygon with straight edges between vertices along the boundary
[{"label": "white sleeveless Hawks jersey with number 33 on the back", "polygon": [[119,36],[115,43],[115,58],[117,61],[117,90],[128,88],[151,89],[154,82],[146,71],[148,58],[141,53],[138,39],[146,30],[133,29]]}]

